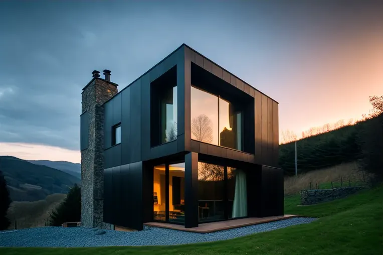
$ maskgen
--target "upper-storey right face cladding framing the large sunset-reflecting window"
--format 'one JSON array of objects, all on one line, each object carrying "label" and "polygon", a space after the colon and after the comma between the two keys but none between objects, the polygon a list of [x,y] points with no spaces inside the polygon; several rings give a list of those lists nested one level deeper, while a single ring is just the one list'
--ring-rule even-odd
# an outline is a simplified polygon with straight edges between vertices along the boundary
[{"label": "upper-storey right face cladding framing the large sunset-reflecting window", "polygon": [[[232,86],[238,88],[244,93],[250,95],[254,98],[254,110],[252,110],[254,121],[254,128],[246,126],[244,127],[244,132],[247,132],[245,136],[249,137],[249,132],[251,134],[251,140],[254,140],[251,144],[245,142],[244,146],[247,151],[254,152],[254,155],[248,155],[246,153],[229,150],[229,149],[220,149],[216,148],[214,145],[204,144],[195,142],[191,140],[190,130],[190,79],[191,71],[190,65],[194,63],[199,67],[204,68],[206,71],[214,74],[215,76],[221,78],[222,80],[230,83]],[[212,156],[228,157],[235,158],[240,161],[251,161],[255,164],[264,164],[269,166],[278,166],[278,147],[279,147],[279,136],[278,136],[278,103],[256,90],[254,87],[250,86],[243,80],[237,78],[235,75],[230,74],[228,71],[222,67],[216,65],[209,59],[205,58],[198,52],[193,49],[185,46],[185,149],[198,152],[202,154],[208,154]],[[247,117],[247,116],[246,116]],[[187,122],[188,121],[188,122]],[[188,146],[188,141],[190,141],[190,147]],[[249,145],[253,146],[251,150],[248,149]]]}]

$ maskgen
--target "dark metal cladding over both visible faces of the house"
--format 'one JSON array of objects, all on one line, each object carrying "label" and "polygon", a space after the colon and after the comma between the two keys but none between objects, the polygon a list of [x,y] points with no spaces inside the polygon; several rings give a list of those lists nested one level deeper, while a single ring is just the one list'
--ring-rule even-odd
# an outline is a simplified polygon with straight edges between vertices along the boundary
[{"label": "dark metal cladding over both visible faces of the house", "polygon": [[[153,146],[151,84],[169,70],[177,85],[177,139]],[[244,102],[244,152],[191,140],[192,83]],[[121,143],[113,145],[118,123]],[[81,127],[82,149],[85,137]],[[199,222],[199,161],[246,170],[248,217],[283,215],[278,140],[278,103],[183,44],[104,103],[104,222],[142,229],[153,221],[153,166],[179,161],[185,162],[185,227]]]}]

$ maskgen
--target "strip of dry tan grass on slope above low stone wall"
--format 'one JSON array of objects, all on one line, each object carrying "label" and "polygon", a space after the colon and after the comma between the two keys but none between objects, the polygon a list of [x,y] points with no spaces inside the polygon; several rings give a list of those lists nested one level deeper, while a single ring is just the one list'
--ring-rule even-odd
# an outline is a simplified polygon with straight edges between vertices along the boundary
[{"label": "strip of dry tan grass on slope above low stone wall", "polygon": [[284,180],[284,193],[285,195],[296,194],[301,190],[312,189],[317,186],[320,188],[331,187],[333,182],[334,187],[359,185],[367,181],[368,176],[366,173],[359,171],[356,162],[344,163],[333,167],[310,171],[308,173],[300,174],[297,177],[289,176]]}]

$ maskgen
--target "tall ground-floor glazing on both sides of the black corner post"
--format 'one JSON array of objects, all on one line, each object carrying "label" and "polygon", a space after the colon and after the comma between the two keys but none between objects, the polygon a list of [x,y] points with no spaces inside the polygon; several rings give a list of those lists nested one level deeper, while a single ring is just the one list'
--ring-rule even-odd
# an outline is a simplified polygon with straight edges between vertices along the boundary
[{"label": "tall ground-floor glazing on both sides of the black corner post", "polygon": [[[184,224],[185,192],[184,162],[154,166],[153,219]],[[199,222],[246,217],[246,171],[198,162],[196,199]]]}]

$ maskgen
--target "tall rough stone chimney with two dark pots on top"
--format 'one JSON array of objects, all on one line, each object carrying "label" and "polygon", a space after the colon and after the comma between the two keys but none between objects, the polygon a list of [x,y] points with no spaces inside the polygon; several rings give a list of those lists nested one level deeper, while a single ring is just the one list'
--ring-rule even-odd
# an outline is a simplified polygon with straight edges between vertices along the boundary
[{"label": "tall rough stone chimney with two dark pots on top", "polygon": [[100,79],[99,73],[96,70],[92,72],[93,79],[82,92],[81,116],[86,115],[86,117],[81,119],[81,141],[82,143],[86,141],[84,142],[86,145],[82,145],[83,148],[81,148],[81,223],[86,227],[110,228],[110,224],[103,222],[103,104],[117,94],[118,85]]}]

